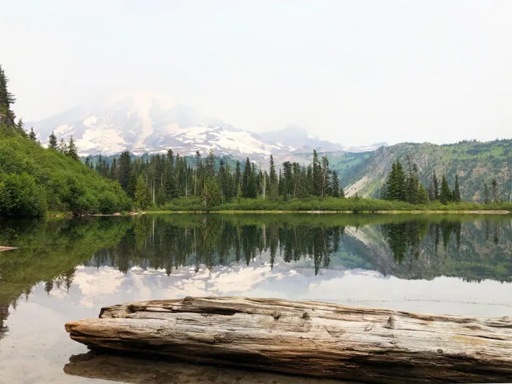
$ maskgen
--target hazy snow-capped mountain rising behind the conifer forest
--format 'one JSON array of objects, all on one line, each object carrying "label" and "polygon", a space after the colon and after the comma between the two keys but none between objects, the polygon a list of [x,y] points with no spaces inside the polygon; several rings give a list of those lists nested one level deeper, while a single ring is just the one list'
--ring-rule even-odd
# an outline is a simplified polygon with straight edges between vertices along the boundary
[{"label": "hazy snow-capped mountain rising behind the conifer forest", "polygon": [[322,141],[294,126],[265,134],[247,132],[148,92],[114,95],[28,125],[43,142],[52,131],[58,139],[73,135],[84,155],[111,155],[126,149],[154,154],[169,148],[188,155],[197,150],[205,154],[211,148],[215,154],[257,159],[312,149],[346,151],[340,144]]}]

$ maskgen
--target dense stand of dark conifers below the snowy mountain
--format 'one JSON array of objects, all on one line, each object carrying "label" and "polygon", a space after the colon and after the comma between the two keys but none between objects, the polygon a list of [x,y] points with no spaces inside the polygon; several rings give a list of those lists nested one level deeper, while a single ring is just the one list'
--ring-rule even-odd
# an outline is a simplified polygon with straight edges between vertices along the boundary
[{"label": "dense stand of dark conifers below the snowy mountain", "polygon": [[197,198],[202,208],[223,206],[240,198],[286,201],[289,198],[343,197],[338,175],[329,167],[326,156],[313,152],[313,164],[284,161],[268,171],[249,158],[244,162],[219,159],[210,149],[206,158],[179,156],[172,149],[166,155],[134,158],[124,151],[118,158],[85,159],[91,170],[118,181],[128,196],[142,209],[163,206],[176,198]]}]

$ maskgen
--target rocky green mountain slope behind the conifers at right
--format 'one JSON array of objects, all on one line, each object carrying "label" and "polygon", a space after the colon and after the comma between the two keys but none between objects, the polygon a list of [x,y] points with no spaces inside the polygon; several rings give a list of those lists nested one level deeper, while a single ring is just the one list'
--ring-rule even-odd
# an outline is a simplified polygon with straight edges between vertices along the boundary
[{"label": "rocky green mountain slope behind the conifers at right", "polygon": [[[436,171],[439,178],[447,175],[453,186],[455,174],[459,176],[462,198],[482,201],[484,183],[491,188],[491,181],[498,182],[498,195],[508,201],[512,188],[512,140],[494,142],[459,142],[457,144],[435,145],[429,143],[402,143],[381,147],[356,177],[346,178],[346,193],[352,196],[375,196],[380,193],[385,176],[388,175],[393,161],[406,163],[409,154],[417,164],[420,178],[428,186],[430,176]],[[348,185],[350,184],[350,185]]]}]

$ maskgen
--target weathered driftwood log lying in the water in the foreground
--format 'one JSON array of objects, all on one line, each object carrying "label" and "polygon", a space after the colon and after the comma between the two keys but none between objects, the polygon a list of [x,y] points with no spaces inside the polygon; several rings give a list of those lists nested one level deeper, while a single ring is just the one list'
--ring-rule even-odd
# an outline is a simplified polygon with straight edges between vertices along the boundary
[{"label": "weathered driftwood log lying in the water in the foreground", "polygon": [[92,347],[362,381],[512,382],[512,319],[245,297],[103,308],[65,325]]}]

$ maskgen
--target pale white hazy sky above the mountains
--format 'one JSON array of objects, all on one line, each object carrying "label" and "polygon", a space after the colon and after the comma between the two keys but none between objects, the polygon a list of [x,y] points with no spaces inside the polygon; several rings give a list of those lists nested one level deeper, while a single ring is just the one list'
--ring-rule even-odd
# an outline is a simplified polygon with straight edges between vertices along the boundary
[{"label": "pale white hazy sky above the mountains", "polygon": [[144,89],[346,145],[512,137],[512,1],[2,1],[15,112]]}]

